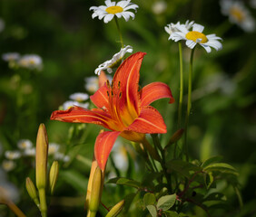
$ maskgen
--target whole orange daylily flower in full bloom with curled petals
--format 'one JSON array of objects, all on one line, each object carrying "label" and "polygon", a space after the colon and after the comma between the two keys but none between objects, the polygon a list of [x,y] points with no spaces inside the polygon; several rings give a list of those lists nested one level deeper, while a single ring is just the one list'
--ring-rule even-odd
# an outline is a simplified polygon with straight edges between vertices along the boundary
[{"label": "whole orange daylily flower in full bloom with curled petals", "polygon": [[97,90],[91,100],[97,109],[73,107],[56,110],[51,119],[64,122],[93,123],[111,131],[104,131],[96,138],[95,158],[101,169],[118,136],[134,142],[143,142],[145,134],[166,133],[161,114],[149,106],[154,100],[169,98],[174,102],[170,88],[162,82],[153,82],[139,88],[140,68],[144,52],[136,52],[117,69],[112,84],[108,80]]}]

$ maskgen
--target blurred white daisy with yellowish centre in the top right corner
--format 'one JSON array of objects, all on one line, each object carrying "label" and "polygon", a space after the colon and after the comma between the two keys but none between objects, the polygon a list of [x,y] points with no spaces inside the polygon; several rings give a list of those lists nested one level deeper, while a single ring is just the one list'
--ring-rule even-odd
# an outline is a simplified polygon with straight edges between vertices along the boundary
[{"label": "blurred white daisy with yellowish centre in the top right corner", "polygon": [[232,24],[237,24],[245,32],[255,29],[255,21],[243,2],[237,0],[221,0],[222,14],[228,15]]}]

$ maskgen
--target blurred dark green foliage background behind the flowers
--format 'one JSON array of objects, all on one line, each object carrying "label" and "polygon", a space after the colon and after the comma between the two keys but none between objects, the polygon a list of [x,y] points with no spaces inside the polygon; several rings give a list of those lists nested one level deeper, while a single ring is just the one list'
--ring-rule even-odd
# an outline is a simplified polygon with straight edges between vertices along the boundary
[{"label": "blurred dark green foliage background behind the flowers", "polygon": [[[195,51],[190,155],[200,160],[209,156],[223,156],[223,161],[236,167],[240,173],[244,200],[241,215],[238,214],[235,194],[223,186],[223,191],[229,195],[228,208],[213,216],[255,215],[255,31],[245,33],[239,26],[229,23],[216,0],[169,0],[165,1],[166,8],[160,14],[153,10],[156,2],[134,0],[133,3],[139,5],[135,19],[127,23],[120,19],[119,23],[124,44],[132,45],[133,52],[147,52],[140,84],[144,86],[157,80],[165,82],[178,102],[178,44],[168,41],[169,35],[164,31],[166,24],[194,20],[205,26],[203,33],[216,33],[222,37],[222,51],[207,53],[201,47]],[[244,2],[255,17],[255,9],[250,7],[250,2]],[[94,70],[100,63],[120,51],[114,22],[104,24],[97,18],[92,19],[89,8],[93,5],[103,5],[103,1],[0,1],[0,18],[5,22],[5,28],[0,33],[0,54],[35,53],[44,62],[42,71],[30,71],[24,75],[27,71],[11,69],[6,61],[0,61],[1,162],[5,159],[6,150],[16,149],[19,139],[28,138],[35,143],[40,123],[45,124],[49,141],[60,144],[66,152],[68,130],[75,124],[50,121],[52,111],[58,109],[72,93],[86,92],[84,78],[94,76]],[[185,81],[190,52],[183,46]],[[17,78],[29,85],[29,91],[24,93],[25,102],[18,109]],[[185,82],[185,91],[186,86]],[[167,140],[175,131],[178,104],[169,105],[166,109],[166,100],[162,99],[153,106],[160,110],[167,124],[169,133],[163,137]],[[52,201],[50,216],[81,216],[84,212],[83,200],[90,164],[81,163],[76,156],[84,156],[90,163],[94,139],[100,127],[86,126],[87,133],[81,133],[77,125],[74,128],[77,134],[70,142],[72,148],[68,149],[71,161],[62,167],[63,173],[57,185],[56,198]],[[25,177],[34,176],[33,164],[27,164],[23,159],[19,162],[15,171],[3,172],[0,179],[5,176],[8,182],[18,187],[19,199],[16,202],[28,216],[39,216],[36,208],[31,208],[33,203],[25,192]],[[133,170],[131,178],[140,179],[142,176]],[[122,199],[123,190],[117,190],[111,186],[107,188],[103,201],[109,203]],[[195,212],[197,216],[204,216],[202,212]],[[0,216],[14,215],[0,205]]]}]

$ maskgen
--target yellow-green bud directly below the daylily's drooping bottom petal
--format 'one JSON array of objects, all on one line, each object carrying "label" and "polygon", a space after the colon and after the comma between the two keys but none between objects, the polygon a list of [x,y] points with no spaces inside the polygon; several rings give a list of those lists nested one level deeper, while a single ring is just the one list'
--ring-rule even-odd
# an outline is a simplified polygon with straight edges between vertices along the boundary
[{"label": "yellow-green bud directly below the daylily's drooping bottom petal", "polygon": [[101,171],[101,168],[97,166],[94,173],[91,198],[89,201],[90,212],[96,213],[98,210],[98,207],[101,201],[101,189],[102,189],[102,171]]}]

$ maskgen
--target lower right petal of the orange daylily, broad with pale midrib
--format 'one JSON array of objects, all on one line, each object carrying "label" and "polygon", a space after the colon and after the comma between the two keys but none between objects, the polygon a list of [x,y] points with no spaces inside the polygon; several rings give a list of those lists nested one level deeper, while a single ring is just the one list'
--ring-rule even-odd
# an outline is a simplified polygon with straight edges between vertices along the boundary
[{"label": "lower right petal of the orange daylily, broad with pale midrib", "polygon": [[141,114],[125,130],[132,130],[137,133],[155,134],[166,133],[166,126],[161,114],[151,106],[142,107]]}]

